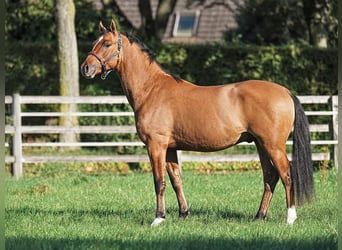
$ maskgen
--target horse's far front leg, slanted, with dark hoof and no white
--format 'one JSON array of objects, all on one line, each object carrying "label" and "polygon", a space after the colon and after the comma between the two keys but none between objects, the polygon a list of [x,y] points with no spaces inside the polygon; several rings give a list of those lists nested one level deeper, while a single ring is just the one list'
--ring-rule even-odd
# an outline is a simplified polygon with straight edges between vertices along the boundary
[{"label": "horse's far front leg, slanted, with dark hoof and no white", "polygon": [[181,178],[181,171],[178,165],[178,157],[176,150],[168,150],[166,153],[166,169],[169,174],[173,190],[176,193],[179,217],[185,218],[189,214],[188,205],[183,193],[183,184]]}]

